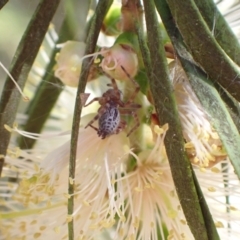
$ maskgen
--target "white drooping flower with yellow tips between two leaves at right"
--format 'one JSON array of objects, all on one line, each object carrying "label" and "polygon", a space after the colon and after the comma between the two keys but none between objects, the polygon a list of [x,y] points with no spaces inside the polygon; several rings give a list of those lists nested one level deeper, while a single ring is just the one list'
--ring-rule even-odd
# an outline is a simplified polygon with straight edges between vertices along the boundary
[{"label": "white drooping flower with yellow tips between two leaves at right", "polygon": [[180,64],[172,62],[170,69],[188,156],[194,164],[211,167],[226,159],[221,140]]}]

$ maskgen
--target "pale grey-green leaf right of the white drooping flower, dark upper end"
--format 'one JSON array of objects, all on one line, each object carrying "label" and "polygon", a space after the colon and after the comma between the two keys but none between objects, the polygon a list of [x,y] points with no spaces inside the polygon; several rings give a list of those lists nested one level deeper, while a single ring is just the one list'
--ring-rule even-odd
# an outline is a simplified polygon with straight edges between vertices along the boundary
[{"label": "pale grey-green leaf right of the white drooping flower, dark upper end", "polygon": [[[228,156],[233,164],[236,174],[240,177],[240,137],[238,130],[223,103],[221,96],[215,89],[213,83],[206,74],[185,57],[187,50],[184,47],[183,39],[173,22],[171,13],[164,0],[155,0],[156,7],[162,17],[168,34],[177,50],[178,57],[186,71],[189,81],[204,109],[210,116],[212,125],[217,130]],[[162,2],[164,5],[160,4]],[[163,8],[163,6],[165,8]],[[162,11],[164,9],[164,11]]]}]

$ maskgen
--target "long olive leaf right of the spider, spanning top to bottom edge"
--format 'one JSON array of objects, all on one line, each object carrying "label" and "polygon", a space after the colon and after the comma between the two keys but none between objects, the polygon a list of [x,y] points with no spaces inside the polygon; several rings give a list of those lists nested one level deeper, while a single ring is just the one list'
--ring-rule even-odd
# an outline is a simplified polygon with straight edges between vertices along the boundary
[{"label": "long olive leaf right of the spider, spanning top to bottom edge", "polygon": [[[161,41],[159,23],[156,18],[153,0],[144,0],[147,23],[148,47],[151,61],[148,69],[150,88],[155,102],[158,119],[163,125],[169,124],[165,146],[171,167],[172,177],[188,225],[197,240],[208,239],[202,216],[199,198],[195,189],[193,172],[184,150],[181,122],[178,115],[173,87],[170,83],[165,51]],[[141,41],[142,42],[142,41]],[[140,42],[140,43],[141,43]],[[141,46],[142,48],[143,46]],[[143,58],[147,50],[142,52]],[[146,59],[149,60],[147,54]]]}]

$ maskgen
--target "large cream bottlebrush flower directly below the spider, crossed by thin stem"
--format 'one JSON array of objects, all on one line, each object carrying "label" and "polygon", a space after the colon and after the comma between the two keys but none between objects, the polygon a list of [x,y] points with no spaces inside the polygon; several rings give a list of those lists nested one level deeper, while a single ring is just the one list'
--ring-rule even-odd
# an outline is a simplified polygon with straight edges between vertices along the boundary
[{"label": "large cream bottlebrush flower directly below the spider, crossed by thin stem", "polygon": [[[22,151],[7,158],[7,163],[16,169],[27,163],[32,167],[18,171],[21,181],[17,192],[3,204],[7,211],[1,214],[0,239],[65,239],[71,219],[79,239],[92,239],[100,230],[114,225],[124,204],[113,182],[121,177],[128,157],[126,134],[102,140],[91,128],[80,130],[75,179],[68,179],[69,151],[67,142],[45,157],[41,169],[33,164],[35,154]],[[67,215],[66,208],[69,181],[75,186],[72,216]]]}]

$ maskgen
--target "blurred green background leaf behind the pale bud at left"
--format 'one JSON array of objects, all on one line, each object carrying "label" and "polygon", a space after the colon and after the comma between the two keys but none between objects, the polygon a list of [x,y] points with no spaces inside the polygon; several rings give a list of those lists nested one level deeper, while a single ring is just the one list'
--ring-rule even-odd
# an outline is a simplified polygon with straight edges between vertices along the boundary
[{"label": "blurred green background leaf behind the pale bud at left", "polygon": [[[78,3],[83,2],[84,0],[79,1]],[[66,4],[68,6],[74,5],[76,0],[68,1]],[[87,13],[89,10],[90,3],[82,5],[81,11],[81,27],[84,29],[84,25],[86,24]],[[85,8],[84,8],[85,7]],[[75,10],[76,11],[76,10]],[[59,32],[58,43],[64,43],[68,40],[72,40],[75,37],[76,32],[78,30],[75,28],[76,25],[70,27],[70,19],[72,19],[72,12],[67,12],[66,17],[63,21],[62,27]],[[70,16],[69,16],[70,15]],[[84,19],[85,16],[85,19]],[[84,37],[84,34],[80,34]],[[35,95],[29,104],[29,108],[27,109],[27,122],[24,125],[23,130],[32,133],[40,133],[46,120],[48,119],[52,108],[54,107],[59,95],[63,90],[63,84],[60,80],[58,80],[54,76],[53,67],[55,65],[55,57],[56,53],[59,51],[59,48],[55,48],[51,54],[50,62],[46,67],[45,74],[43,76],[43,81],[39,84],[36,89]],[[35,139],[27,138],[24,136],[20,136],[18,139],[19,147],[21,149],[30,149],[33,147],[36,142]]]}]

